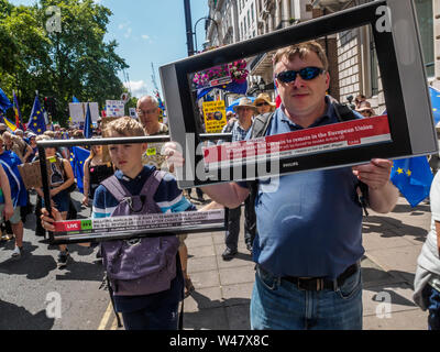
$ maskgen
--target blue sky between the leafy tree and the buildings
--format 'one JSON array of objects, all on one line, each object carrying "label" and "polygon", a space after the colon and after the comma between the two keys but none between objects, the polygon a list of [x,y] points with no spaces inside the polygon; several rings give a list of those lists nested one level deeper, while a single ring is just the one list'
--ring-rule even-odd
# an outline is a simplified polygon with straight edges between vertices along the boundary
[{"label": "blue sky between the leafy tree and the buildings", "polygon": [[[10,0],[13,4],[33,4],[35,0]],[[184,0],[95,0],[112,11],[106,42],[119,43],[118,55],[130,68],[133,96],[153,94],[152,63],[161,89],[158,67],[187,57]],[[190,0],[193,30],[196,21],[208,15],[208,0]],[[63,23],[62,23],[63,26]],[[197,24],[197,44],[205,42],[205,21]],[[122,73],[120,78],[124,81]],[[161,91],[162,95],[162,91]],[[110,97],[111,98],[111,97]]]}]

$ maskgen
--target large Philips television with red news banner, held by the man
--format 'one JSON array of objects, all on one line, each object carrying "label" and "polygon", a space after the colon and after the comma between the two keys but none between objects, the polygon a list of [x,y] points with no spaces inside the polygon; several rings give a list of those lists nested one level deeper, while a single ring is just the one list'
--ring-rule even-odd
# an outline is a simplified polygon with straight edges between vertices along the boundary
[{"label": "large Philips television with red news banner, held by the man", "polygon": [[[248,79],[250,65],[258,61],[272,65],[271,58],[283,47],[317,41],[328,50],[328,44],[337,41],[338,62],[328,69],[330,82],[339,88],[349,85],[353,66],[349,53],[355,50],[350,38],[353,31],[370,33],[372,40],[369,55],[376,61],[371,69],[377,69],[382,85],[382,101],[373,117],[246,141],[207,143],[200,139],[224,127],[226,109],[233,96],[229,91],[233,88],[239,92],[234,98],[245,95],[245,90],[240,95],[240,85]],[[170,139],[186,161],[177,169],[179,187],[356,165],[374,157],[435,153],[437,138],[422,63],[413,1],[388,0],[162,66]],[[207,91],[216,89],[220,98],[207,99]],[[337,98],[346,102],[342,94]]]}]

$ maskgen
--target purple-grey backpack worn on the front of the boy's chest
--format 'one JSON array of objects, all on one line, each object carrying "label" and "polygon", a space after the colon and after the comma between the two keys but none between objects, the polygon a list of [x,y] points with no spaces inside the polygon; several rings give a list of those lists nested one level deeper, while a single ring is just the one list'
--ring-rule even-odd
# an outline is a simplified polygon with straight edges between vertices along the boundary
[{"label": "purple-grey backpack worn on the front of the boy's chest", "polygon": [[[101,185],[119,202],[111,217],[161,212],[153,197],[164,175],[155,170],[135,196],[114,175],[103,180]],[[178,245],[176,235],[102,242],[102,263],[113,294],[138,296],[169,289]]]}]

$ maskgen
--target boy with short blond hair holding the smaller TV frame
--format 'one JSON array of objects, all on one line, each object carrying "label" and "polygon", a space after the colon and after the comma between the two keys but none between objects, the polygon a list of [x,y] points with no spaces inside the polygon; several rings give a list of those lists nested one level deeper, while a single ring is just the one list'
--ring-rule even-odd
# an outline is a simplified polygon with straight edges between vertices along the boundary
[{"label": "boy with short blond hair holding the smaller TV frame", "polygon": [[[144,136],[142,125],[132,118],[120,118],[110,122],[105,131],[105,138]],[[142,155],[146,150],[146,143],[135,144],[112,144],[109,145],[109,153],[113,165],[118,168],[114,176],[130,191],[131,195],[139,195],[145,182],[154,173],[155,167],[142,165]],[[176,180],[172,174],[166,174],[153,197],[162,212],[179,212],[196,210],[182,190],[177,188]],[[100,185],[94,198],[92,217],[110,217],[119,202],[110,191]],[[45,211],[47,215],[47,212]],[[55,216],[56,211],[54,211]],[[55,217],[59,219],[59,217]],[[42,217],[43,227],[53,231],[50,224],[53,222],[48,217]],[[175,238],[177,241],[177,239]],[[114,241],[118,242],[118,241]],[[106,251],[102,251],[106,258]],[[177,246],[175,251],[177,255]],[[124,327],[128,330],[175,330],[178,322],[178,304],[183,298],[184,279],[180,264],[176,263],[176,276],[169,283],[169,288],[140,296],[113,295],[116,310],[122,314]]]}]

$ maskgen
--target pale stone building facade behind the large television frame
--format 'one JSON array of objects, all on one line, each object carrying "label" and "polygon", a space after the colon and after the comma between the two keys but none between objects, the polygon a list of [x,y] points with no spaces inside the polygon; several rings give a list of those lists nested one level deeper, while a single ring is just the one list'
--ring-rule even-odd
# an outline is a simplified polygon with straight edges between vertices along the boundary
[{"label": "pale stone building facade behind the large television frame", "polygon": [[[373,0],[353,0],[349,6],[354,7],[371,1]],[[216,19],[223,32],[217,33],[216,25],[210,23],[207,38],[217,45],[235,43],[329,12],[324,8],[314,9],[311,2],[310,0],[209,0],[210,15]],[[414,2],[419,22],[427,84],[440,89],[440,0],[414,0]],[[227,25],[222,25],[223,22]],[[376,111],[382,112],[385,109],[385,101],[372,30],[369,26],[353,29],[320,38],[319,42],[328,51],[329,70],[332,77],[329,92],[341,102],[348,102],[348,98],[362,94]],[[258,94],[257,84],[264,82],[264,90],[274,98],[272,55],[273,53],[265,53],[250,58],[249,86],[254,89],[249,94]]]}]

